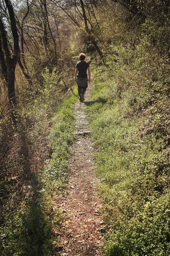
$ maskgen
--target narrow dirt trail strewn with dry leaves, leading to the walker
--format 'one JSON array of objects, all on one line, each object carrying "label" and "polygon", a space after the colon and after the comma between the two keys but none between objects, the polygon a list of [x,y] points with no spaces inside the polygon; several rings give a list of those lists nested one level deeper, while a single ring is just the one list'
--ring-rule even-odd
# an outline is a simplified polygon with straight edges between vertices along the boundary
[{"label": "narrow dirt trail strewn with dry leaves, leading to the walker", "polygon": [[[85,94],[85,102],[76,102],[74,115],[76,132],[88,131],[85,104],[91,92],[92,84]],[[60,255],[102,256],[102,225],[100,202],[96,196],[93,149],[87,136],[77,135],[71,157],[69,193],[60,199],[60,207],[66,212],[67,219],[62,225],[63,234],[58,237],[63,250]]]}]

